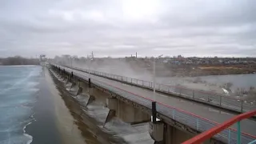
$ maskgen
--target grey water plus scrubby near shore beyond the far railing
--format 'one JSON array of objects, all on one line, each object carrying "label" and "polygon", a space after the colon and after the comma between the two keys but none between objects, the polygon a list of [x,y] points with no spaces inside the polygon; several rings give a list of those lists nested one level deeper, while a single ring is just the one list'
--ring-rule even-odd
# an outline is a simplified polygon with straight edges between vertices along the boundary
[{"label": "grey water plus scrubby near shore beyond the far railing", "polygon": [[204,91],[212,94],[229,95],[234,98],[255,102],[256,74],[209,75],[202,77],[170,78],[158,77],[158,83],[184,89]]}]

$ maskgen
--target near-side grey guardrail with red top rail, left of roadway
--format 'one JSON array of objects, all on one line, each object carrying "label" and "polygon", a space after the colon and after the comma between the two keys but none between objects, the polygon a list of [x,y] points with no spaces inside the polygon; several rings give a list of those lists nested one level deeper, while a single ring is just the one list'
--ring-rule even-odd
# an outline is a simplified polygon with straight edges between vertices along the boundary
[{"label": "near-side grey guardrail with red top rail, left of roadway", "polygon": [[[62,66],[58,66],[62,67]],[[65,68],[66,72],[71,74],[73,71],[73,74],[77,76],[78,78],[88,80],[88,78],[83,75],[75,72],[74,70],[62,67],[62,69]],[[117,76],[112,75],[113,78],[120,78]],[[124,77],[121,77],[124,78]],[[133,94],[132,92],[122,90],[116,86],[111,86],[110,84],[106,82],[98,81],[97,79],[91,78],[91,82],[95,85],[101,86],[102,88],[106,90],[110,90],[114,92],[115,94],[118,94],[124,98],[127,98],[133,102],[138,102],[142,106],[146,106],[147,108],[151,109],[151,100],[150,98],[145,98],[143,96],[140,96],[138,94]],[[189,112],[186,112],[184,110],[177,109],[173,106],[167,106],[165,104],[162,104],[160,102],[157,102],[157,111],[159,114],[165,115],[168,118],[172,118],[177,122],[181,122],[182,124],[186,126],[190,126],[194,130],[198,130],[200,132],[203,132],[205,130],[210,130],[210,128],[217,126],[217,122],[210,121],[209,119],[202,118],[196,114],[191,114]],[[214,138],[217,138],[218,140],[222,142],[230,142],[230,143],[236,143],[236,136],[237,136],[237,130],[234,130],[232,128],[228,128],[223,130],[221,133],[214,136]],[[241,142],[244,144],[247,144],[249,142],[252,142],[254,139],[256,139],[255,136],[252,136],[250,134],[242,133],[241,135]]]}]

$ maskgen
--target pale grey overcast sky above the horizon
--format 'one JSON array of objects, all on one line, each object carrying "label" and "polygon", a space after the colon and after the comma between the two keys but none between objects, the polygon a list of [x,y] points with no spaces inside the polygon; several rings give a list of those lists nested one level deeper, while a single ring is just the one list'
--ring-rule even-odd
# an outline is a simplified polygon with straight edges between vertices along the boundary
[{"label": "pale grey overcast sky above the horizon", "polygon": [[255,0],[1,0],[0,57],[256,57]]}]

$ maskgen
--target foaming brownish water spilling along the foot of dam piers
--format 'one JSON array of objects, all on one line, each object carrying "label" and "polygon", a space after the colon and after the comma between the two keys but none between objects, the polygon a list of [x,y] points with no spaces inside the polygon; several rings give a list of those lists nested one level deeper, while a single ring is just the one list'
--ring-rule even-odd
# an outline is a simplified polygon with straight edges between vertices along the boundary
[{"label": "foaming brownish water spilling along the foot of dam piers", "polygon": [[[56,74],[53,75],[56,76]],[[58,76],[56,77],[60,78]],[[66,82],[66,80],[62,80],[62,78],[58,80]],[[56,79],[56,82],[58,82],[58,80]],[[101,143],[154,143],[148,133],[147,122],[130,125],[129,123],[122,122],[119,118],[113,118],[110,122],[107,122],[106,125],[104,125],[109,109],[103,106],[102,102],[98,101],[91,102],[86,106],[86,102],[89,99],[87,94],[82,93],[78,94],[77,97],[74,97],[70,94],[75,93],[78,88],[74,86],[70,89],[70,82],[65,86],[65,90],[59,90],[62,93],[62,98],[68,103],[68,106],[73,107],[71,110],[74,112],[74,115],[78,114],[78,116],[82,118],[82,122],[86,122],[90,132],[94,134],[94,137],[96,137]],[[69,91],[70,94],[66,94],[67,91]]]}]

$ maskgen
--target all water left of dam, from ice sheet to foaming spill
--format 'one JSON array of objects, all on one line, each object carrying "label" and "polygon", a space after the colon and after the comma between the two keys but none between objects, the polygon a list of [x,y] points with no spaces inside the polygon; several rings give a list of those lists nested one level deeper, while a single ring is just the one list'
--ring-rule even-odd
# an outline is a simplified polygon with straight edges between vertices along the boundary
[{"label": "all water left of dam, from ice sheet to foaming spill", "polygon": [[82,115],[79,107],[47,68],[0,66],[1,144],[153,143],[147,123],[102,126],[106,107],[92,103]]}]

